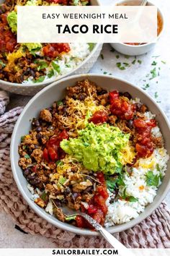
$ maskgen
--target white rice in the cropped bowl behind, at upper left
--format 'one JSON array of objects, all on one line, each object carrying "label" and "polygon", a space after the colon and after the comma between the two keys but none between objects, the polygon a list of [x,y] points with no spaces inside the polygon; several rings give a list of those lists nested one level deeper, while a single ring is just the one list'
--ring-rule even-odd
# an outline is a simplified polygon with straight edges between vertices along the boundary
[{"label": "white rice in the cropped bowl behind, at upper left", "polygon": [[[61,77],[63,74],[68,74],[68,72],[71,72],[73,69],[78,67],[79,64],[81,64],[81,62],[84,61],[84,59],[86,59],[86,57],[89,56],[91,52],[88,43],[70,43],[69,45],[71,47],[71,51],[69,51],[66,54],[62,54],[60,59],[53,61],[55,62],[55,64],[58,64],[58,66],[60,67],[60,72],[57,72],[56,70],[53,69],[54,70],[53,77],[49,78],[48,72],[50,71],[50,69],[53,68],[50,65],[46,69],[46,72],[45,72],[46,76],[43,82],[46,82],[46,81],[50,82],[54,78]],[[23,84],[25,85],[34,84],[33,79],[34,79],[33,77],[29,77],[28,80],[24,80]]]}]

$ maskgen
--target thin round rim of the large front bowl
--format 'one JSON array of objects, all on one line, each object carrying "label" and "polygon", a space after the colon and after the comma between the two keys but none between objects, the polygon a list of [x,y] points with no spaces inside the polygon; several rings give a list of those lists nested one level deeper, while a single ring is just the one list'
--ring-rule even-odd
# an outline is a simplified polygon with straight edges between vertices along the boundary
[{"label": "thin round rim of the large front bowl", "polygon": [[[115,77],[115,76],[109,76],[109,75],[106,75],[106,74],[76,74],[76,75],[73,75],[71,77],[65,77],[63,78],[62,80],[58,80],[56,82],[53,82],[51,85],[48,85],[47,87],[43,88],[42,90],[40,90],[39,93],[37,93],[28,103],[27,105],[24,107],[22,113],[19,115],[19,118],[17,119],[17,123],[15,124],[14,126],[14,131],[12,133],[12,140],[11,140],[11,145],[10,145],[10,160],[11,160],[11,166],[12,166],[12,174],[14,176],[14,180],[17,184],[17,187],[19,189],[19,192],[21,192],[22,194],[22,197],[24,197],[24,200],[26,200],[26,202],[28,203],[28,205],[30,205],[30,207],[32,208],[32,210],[35,211],[35,213],[37,213],[38,216],[42,217],[43,219],[45,219],[46,221],[48,221],[49,223],[52,223],[54,226],[57,226],[59,229],[63,229],[65,231],[71,231],[72,233],[75,233],[75,234],[81,234],[81,235],[88,235],[88,236],[98,236],[99,235],[99,232],[97,231],[90,231],[88,229],[78,229],[73,226],[73,225],[69,225],[69,226],[65,226],[65,224],[61,221],[59,221],[57,218],[56,220],[58,221],[54,221],[50,215],[49,216],[45,216],[44,212],[41,212],[39,210],[39,207],[35,204],[35,202],[33,202],[31,200],[30,197],[28,197],[26,195],[26,193],[24,192],[24,189],[22,187],[22,184],[20,183],[20,180],[19,180],[19,177],[17,176],[17,168],[14,164],[14,151],[16,150],[16,145],[14,144],[15,142],[15,135],[17,133],[17,129],[19,127],[19,124],[20,124],[20,121],[22,121],[22,116],[24,116],[25,112],[27,111],[27,108],[29,108],[29,106],[32,104],[32,102],[36,101],[36,99],[39,97],[39,95],[41,95],[42,93],[45,93],[45,91],[48,91],[50,88],[53,88],[53,86],[56,86],[56,85],[59,85],[61,82],[67,82],[68,81],[68,84],[69,84],[69,80],[71,79],[74,79],[74,78],[79,78],[80,80],[81,79],[84,79],[84,78],[89,78],[90,77],[104,77],[104,78],[108,78],[109,80],[120,80],[121,82],[125,82],[127,83],[128,85],[130,85],[132,88],[135,88],[135,90],[139,90],[140,93],[143,93],[143,95],[145,95],[146,98],[149,98],[149,100],[153,103],[153,105],[156,106],[156,108],[158,108],[158,111],[160,111],[161,113],[161,116],[164,117],[165,121],[166,121],[166,124],[167,124],[167,127],[169,128],[169,132],[170,132],[170,124],[169,124],[169,120],[166,116],[166,114],[164,114],[164,111],[162,111],[161,107],[158,106],[158,104],[153,101],[153,98],[151,98],[150,95],[148,95],[146,92],[144,92],[142,89],[136,87],[135,85],[133,85],[133,83],[131,82],[128,82],[127,80],[125,79],[122,79],[120,77]],[[18,146],[18,145],[17,145]],[[161,196],[158,198],[158,201],[152,206],[151,209],[148,209],[148,212],[146,212],[146,208],[145,210],[143,211],[143,218],[142,219],[139,219],[138,221],[136,221],[136,218],[132,219],[131,221],[129,221],[128,223],[123,223],[123,224],[120,224],[120,225],[116,225],[116,226],[112,226],[112,227],[109,227],[107,229],[107,231],[109,231],[111,234],[114,234],[114,233],[117,233],[117,232],[120,232],[120,231],[125,231],[126,229],[130,229],[132,228],[133,226],[137,225],[138,223],[140,223],[141,221],[143,221],[145,218],[147,218],[148,216],[151,215],[151,213],[156,210],[156,208],[158,208],[158,206],[161,204],[161,202],[164,200],[164,198],[166,197],[166,194],[169,192],[169,189],[170,189],[170,180],[169,180],[169,183],[166,187],[166,189],[164,190],[164,193],[161,194]],[[154,202],[154,199],[153,199],[153,202]],[[146,213],[145,213],[146,212]],[[140,213],[141,214],[141,213]],[[140,217],[140,215],[139,215]]]}]

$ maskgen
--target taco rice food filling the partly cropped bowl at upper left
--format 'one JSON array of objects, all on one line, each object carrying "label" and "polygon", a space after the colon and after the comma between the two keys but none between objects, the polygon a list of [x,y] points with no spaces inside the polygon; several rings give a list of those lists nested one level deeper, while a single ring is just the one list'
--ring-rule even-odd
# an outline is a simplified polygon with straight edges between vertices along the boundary
[{"label": "taco rice food filling the partly cropped bowl at upper left", "polygon": [[71,72],[94,48],[93,43],[17,43],[17,6],[89,4],[89,0],[5,0],[0,4],[0,80],[28,84],[51,80]]}]

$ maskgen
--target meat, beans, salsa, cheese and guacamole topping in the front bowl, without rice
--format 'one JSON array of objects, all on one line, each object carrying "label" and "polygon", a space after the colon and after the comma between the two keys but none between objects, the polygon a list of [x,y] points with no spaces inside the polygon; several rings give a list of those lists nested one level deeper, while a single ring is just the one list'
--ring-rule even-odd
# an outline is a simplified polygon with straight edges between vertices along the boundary
[{"label": "meat, beans, salsa, cheese and guacamole topping in the front bowl, without rice", "polygon": [[87,213],[104,226],[109,205],[137,202],[125,175],[133,178],[139,161],[163,148],[147,111],[130,93],[107,92],[90,80],[68,87],[65,98],[32,119],[19,145],[19,166],[35,203],[60,221],[91,228],[81,216],[66,218],[62,207]]}]

